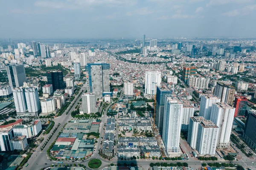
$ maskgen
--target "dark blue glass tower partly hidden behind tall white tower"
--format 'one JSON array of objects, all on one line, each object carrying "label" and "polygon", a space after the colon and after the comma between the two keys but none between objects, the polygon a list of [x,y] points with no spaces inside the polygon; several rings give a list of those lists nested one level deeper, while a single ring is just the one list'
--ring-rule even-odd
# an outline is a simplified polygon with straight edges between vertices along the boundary
[{"label": "dark blue glass tower partly hidden behind tall white tower", "polygon": [[159,133],[161,135],[163,135],[163,115],[165,96],[171,94],[172,91],[166,86],[157,86],[155,124],[157,125]]}]

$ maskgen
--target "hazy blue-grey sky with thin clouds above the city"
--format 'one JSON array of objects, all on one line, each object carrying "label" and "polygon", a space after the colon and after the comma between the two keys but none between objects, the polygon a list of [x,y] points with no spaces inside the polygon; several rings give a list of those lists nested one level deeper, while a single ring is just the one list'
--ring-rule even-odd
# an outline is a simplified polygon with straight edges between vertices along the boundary
[{"label": "hazy blue-grey sky with thin clouds above the city", "polygon": [[0,0],[0,38],[256,37],[256,0]]}]

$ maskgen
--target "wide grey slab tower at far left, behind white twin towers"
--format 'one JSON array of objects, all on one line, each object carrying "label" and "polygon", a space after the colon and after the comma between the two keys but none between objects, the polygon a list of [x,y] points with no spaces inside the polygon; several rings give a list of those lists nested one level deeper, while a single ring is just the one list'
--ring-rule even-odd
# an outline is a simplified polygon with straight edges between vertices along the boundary
[{"label": "wide grey slab tower at far left, behind white twin towers", "polygon": [[23,64],[6,66],[9,85],[11,88],[18,88],[26,82],[26,73]]}]

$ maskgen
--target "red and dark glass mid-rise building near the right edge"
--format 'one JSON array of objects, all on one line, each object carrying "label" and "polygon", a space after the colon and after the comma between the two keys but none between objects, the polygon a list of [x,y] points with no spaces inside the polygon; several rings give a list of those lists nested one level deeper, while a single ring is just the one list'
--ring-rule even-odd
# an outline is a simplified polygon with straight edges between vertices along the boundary
[{"label": "red and dark glass mid-rise building near the right edge", "polygon": [[234,104],[234,108],[236,108],[235,117],[244,117],[247,103],[248,103],[248,99],[246,97],[244,96],[235,97],[235,104]]}]

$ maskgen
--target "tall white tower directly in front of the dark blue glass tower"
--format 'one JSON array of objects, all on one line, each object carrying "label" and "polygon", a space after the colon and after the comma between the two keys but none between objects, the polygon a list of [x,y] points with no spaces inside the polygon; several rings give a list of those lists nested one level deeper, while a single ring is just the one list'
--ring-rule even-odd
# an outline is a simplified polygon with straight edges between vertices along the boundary
[{"label": "tall white tower directly in front of the dark blue glass tower", "polygon": [[166,95],[163,116],[163,144],[167,153],[180,153],[180,128],[183,102],[176,95]]}]

